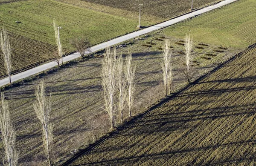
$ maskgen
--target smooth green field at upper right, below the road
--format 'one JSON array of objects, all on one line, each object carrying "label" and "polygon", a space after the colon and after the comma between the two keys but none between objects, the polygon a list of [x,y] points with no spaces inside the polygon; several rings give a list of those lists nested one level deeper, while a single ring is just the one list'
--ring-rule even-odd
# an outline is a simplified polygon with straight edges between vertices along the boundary
[{"label": "smooth green field at upper right, below the road", "polygon": [[170,26],[163,32],[180,38],[189,33],[196,41],[244,48],[256,42],[255,18],[256,1],[239,0],[200,17]]}]

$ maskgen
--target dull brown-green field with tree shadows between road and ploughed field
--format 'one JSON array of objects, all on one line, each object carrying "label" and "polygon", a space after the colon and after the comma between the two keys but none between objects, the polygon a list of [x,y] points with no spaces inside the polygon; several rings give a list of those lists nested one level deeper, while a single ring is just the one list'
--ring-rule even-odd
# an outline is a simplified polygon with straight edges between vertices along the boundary
[{"label": "dull brown-green field with tree shadows between road and ploughed field", "polygon": [[[155,40],[155,37],[158,40]],[[171,38],[171,40],[174,47],[172,63],[175,90],[186,84],[182,73],[184,67],[183,41],[175,38]],[[148,46],[152,44],[153,46],[149,48]],[[133,63],[137,65],[137,89],[134,106],[136,109],[133,109],[133,115],[144,112],[152,103],[156,103],[163,97],[163,76],[160,66],[163,57],[162,51],[159,50],[162,45],[161,36],[153,36],[134,40],[134,44],[117,49],[117,52],[123,54],[131,50]],[[204,46],[204,49],[194,49],[196,77],[207,73],[232,55],[232,50],[216,53],[213,49],[217,48]],[[201,58],[206,56],[206,53],[214,54],[211,60]],[[20,163],[37,165],[44,161],[40,135],[41,126],[33,110],[35,86],[39,80],[44,79],[47,92],[52,92],[51,122],[55,126],[55,162],[60,159],[65,160],[66,156],[71,155],[70,152],[74,152],[80,146],[87,146],[88,143],[92,143],[97,137],[109,131],[108,115],[102,109],[101,60],[102,58],[93,58],[85,62],[71,63],[41,79],[5,91],[17,130]],[[125,110],[126,117],[128,117],[127,109]],[[0,150],[0,156],[3,156],[2,150]]]}]

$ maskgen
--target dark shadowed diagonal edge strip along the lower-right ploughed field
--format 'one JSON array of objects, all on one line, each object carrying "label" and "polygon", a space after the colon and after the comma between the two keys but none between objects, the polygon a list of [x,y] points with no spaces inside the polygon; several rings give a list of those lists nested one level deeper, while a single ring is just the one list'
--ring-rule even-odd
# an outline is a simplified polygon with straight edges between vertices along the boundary
[{"label": "dark shadowed diagonal edge strip along the lower-right ploughed field", "polygon": [[134,124],[134,122],[137,119],[140,119],[141,117],[147,115],[148,113],[150,113],[151,111],[153,111],[154,109],[157,109],[160,106],[163,106],[165,103],[169,102],[169,100],[172,100],[173,98],[175,98],[178,94],[182,93],[183,91],[191,88],[192,86],[195,86],[197,83],[199,83],[201,80],[203,80],[204,78],[210,76],[211,74],[217,72],[219,69],[221,69],[223,66],[227,65],[228,63],[231,63],[233,60],[235,60],[237,57],[240,57],[242,54],[244,54],[245,52],[247,52],[250,49],[256,48],[256,43],[248,46],[246,49],[244,49],[243,51],[235,54],[234,56],[230,57],[228,60],[226,60],[224,63],[219,64],[218,66],[216,66],[214,69],[212,69],[211,71],[209,71],[207,74],[202,75],[201,77],[199,77],[198,79],[196,79],[194,82],[192,82],[191,84],[183,87],[182,89],[178,90],[177,92],[173,93],[172,95],[170,95],[169,97],[166,97],[164,99],[162,99],[159,103],[157,103],[156,105],[150,107],[147,111],[145,111],[144,113],[138,114],[137,116],[132,117],[131,119],[128,119],[127,121],[125,121],[122,126],[119,126],[116,128],[116,130],[108,133],[108,135],[105,135],[103,137],[101,137],[99,140],[97,140],[95,143],[89,145],[87,148],[81,150],[80,152],[78,152],[76,155],[74,155],[73,157],[71,157],[69,160],[65,161],[64,163],[61,164],[61,166],[67,166],[70,163],[72,163],[74,160],[76,160],[78,157],[86,154],[87,152],[89,152],[91,149],[93,149],[94,147],[98,146],[99,144],[103,143],[106,139],[108,139],[109,137],[112,137],[115,134],[118,134],[119,131],[121,131],[122,129],[125,129],[125,126],[129,126]]}]

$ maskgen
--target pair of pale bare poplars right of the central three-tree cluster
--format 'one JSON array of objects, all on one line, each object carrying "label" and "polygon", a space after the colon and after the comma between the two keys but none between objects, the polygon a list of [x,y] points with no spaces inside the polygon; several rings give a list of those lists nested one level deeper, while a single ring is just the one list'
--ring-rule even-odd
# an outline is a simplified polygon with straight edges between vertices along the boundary
[{"label": "pair of pale bare poplars right of the central three-tree cluster", "polygon": [[[192,47],[193,41],[190,37],[190,34],[186,34],[185,36],[185,69],[183,69],[184,76],[186,78],[186,82],[189,84],[193,77],[192,63],[193,63],[193,54]],[[161,67],[163,70],[163,84],[164,84],[164,92],[167,96],[172,93],[172,51],[170,49],[170,40],[166,38],[163,45],[163,61],[161,62]]]}]

